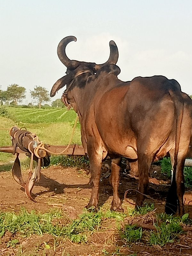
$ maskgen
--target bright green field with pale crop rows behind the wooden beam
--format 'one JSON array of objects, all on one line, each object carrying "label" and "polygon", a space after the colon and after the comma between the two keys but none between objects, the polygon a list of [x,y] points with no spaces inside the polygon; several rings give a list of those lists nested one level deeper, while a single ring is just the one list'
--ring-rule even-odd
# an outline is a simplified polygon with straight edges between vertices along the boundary
[{"label": "bright green field with pale crop rows behind the wooden beam", "polygon": [[[67,111],[64,108],[8,108],[8,116],[0,116],[0,146],[11,145],[9,129],[13,125],[26,127],[28,131],[36,133],[44,143],[67,145],[76,119],[75,111]],[[79,124],[76,127],[72,144],[81,144]],[[0,162],[10,159],[10,154],[0,153]]]}]

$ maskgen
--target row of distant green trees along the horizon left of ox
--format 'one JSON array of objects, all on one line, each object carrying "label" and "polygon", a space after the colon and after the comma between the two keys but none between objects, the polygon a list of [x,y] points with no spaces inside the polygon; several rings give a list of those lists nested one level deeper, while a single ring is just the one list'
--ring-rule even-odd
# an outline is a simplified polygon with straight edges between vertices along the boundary
[{"label": "row of distant green trees along the horizon left of ox", "polygon": [[[30,90],[31,97],[35,99],[38,103],[39,108],[45,102],[50,101],[49,91],[42,86],[35,86],[34,90]],[[2,90],[0,86],[0,103],[7,103],[10,106],[17,107],[18,103],[26,98],[26,89],[25,87],[20,86],[19,84],[11,84],[7,87],[7,90]],[[32,105],[29,103],[28,105]],[[48,105],[49,106],[49,105]],[[52,102],[52,107],[58,108],[62,107],[63,104],[60,99],[57,99]]]}]

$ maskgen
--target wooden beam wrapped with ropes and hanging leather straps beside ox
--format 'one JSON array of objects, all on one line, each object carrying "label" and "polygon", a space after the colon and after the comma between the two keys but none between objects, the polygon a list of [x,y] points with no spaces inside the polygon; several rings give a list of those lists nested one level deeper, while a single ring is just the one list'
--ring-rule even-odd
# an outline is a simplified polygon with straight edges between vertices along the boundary
[{"label": "wooden beam wrapped with ropes and hanging leather straps beside ox", "polygon": [[[9,134],[11,136],[12,146],[0,147],[0,152],[16,155],[15,162],[12,166],[12,177],[25,189],[25,194],[34,202],[36,201],[31,196],[31,191],[35,182],[40,179],[41,167],[46,167],[50,164],[51,154],[76,156],[85,155],[83,146],[50,146],[49,144],[44,144],[40,141],[36,134],[28,132],[26,129],[19,129],[16,126],[13,126],[10,129]],[[26,154],[26,156],[29,156],[31,159],[28,179],[26,182],[24,182],[22,177],[19,154]],[[33,170],[33,160],[36,161],[35,170]]]}]

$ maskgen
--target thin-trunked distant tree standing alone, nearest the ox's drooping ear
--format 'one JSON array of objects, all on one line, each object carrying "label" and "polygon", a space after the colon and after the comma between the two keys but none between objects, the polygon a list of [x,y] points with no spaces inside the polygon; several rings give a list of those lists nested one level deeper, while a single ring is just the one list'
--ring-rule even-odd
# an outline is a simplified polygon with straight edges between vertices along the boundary
[{"label": "thin-trunked distant tree standing alone, nearest the ox's drooping ear", "polygon": [[36,99],[38,101],[39,108],[41,108],[41,104],[43,102],[47,102],[50,100],[49,92],[47,91],[46,88],[42,86],[36,86],[33,91],[30,91],[30,93],[31,93],[31,97],[33,97],[33,99]]}]

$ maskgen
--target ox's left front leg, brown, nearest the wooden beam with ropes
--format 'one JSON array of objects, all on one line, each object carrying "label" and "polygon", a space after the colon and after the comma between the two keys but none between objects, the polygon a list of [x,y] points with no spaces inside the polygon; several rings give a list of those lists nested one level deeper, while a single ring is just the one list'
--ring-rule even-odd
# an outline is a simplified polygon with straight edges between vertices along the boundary
[{"label": "ox's left front leg, brown, nearest the wooden beam with ropes", "polygon": [[89,150],[89,148],[87,148],[87,151],[88,151],[87,153],[90,161],[90,170],[91,170],[90,184],[92,186],[92,194],[86,208],[89,209],[90,207],[93,206],[94,209],[97,210],[98,198],[99,198],[99,183],[100,183],[100,173],[101,173],[101,163],[102,163],[102,152]]}]

